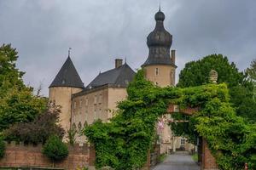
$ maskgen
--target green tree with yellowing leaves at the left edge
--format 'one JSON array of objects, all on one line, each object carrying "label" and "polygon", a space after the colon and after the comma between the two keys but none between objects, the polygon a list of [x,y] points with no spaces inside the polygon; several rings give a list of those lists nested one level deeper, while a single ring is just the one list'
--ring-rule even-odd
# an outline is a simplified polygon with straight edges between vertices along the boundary
[{"label": "green tree with yellowing leaves at the left edge", "polygon": [[0,47],[0,132],[16,122],[32,122],[47,107],[47,99],[33,95],[33,88],[22,81],[17,59],[10,44]]}]

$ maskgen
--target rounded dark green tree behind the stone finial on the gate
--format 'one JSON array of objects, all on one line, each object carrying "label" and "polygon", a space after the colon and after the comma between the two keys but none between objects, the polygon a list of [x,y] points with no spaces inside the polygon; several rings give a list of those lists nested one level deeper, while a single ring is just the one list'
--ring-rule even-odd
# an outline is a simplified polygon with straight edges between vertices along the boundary
[{"label": "rounded dark green tree behind the stone finial on the gate", "polygon": [[187,88],[207,84],[211,70],[218,72],[218,83],[225,82],[229,87],[235,87],[244,80],[243,73],[238,71],[235,63],[230,63],[222,54],[211,54],[187,63],[179,74],[177,87]]}]

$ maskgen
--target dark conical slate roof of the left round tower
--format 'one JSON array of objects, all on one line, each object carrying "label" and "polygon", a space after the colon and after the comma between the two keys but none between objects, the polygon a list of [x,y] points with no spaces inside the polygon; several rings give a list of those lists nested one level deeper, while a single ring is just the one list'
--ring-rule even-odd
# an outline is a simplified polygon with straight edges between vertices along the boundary
[{"label": "dark conical slate roof of the left round tower", "polygon": [[69,56],[49,86],[49,88],[53,87],[84,88],[84,83]]}]

